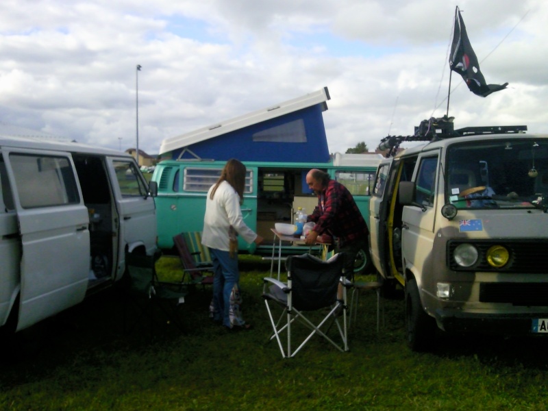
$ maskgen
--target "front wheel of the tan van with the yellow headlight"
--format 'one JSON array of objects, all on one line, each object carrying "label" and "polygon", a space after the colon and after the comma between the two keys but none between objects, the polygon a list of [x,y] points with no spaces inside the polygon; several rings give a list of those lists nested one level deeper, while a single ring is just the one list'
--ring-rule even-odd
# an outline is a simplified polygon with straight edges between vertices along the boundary
[{"label": "front wheel of the tan van with the yellow headlight", "polygon": [[406,284],[406,332],[410,349],[428,351],[432,348],[436,327],[436,321],[423,310],[416,279],[411,279]]}]

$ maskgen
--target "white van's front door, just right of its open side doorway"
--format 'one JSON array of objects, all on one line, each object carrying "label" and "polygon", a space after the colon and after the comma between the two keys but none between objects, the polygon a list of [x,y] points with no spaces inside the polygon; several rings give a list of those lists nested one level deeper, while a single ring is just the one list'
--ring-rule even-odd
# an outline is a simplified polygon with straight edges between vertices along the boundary
[{"label": "white van's front door, just right of its open side doorway", "polygon": [[119,215],[114,221],[113,236],[118,239],[117,277],[120,277],[125,266],[121,264],[125,245],[141,245],[148,254],[155,249],[156,214],[154,199],[148,195],[148,184],[132,158],[108,158],[108,167]]}]

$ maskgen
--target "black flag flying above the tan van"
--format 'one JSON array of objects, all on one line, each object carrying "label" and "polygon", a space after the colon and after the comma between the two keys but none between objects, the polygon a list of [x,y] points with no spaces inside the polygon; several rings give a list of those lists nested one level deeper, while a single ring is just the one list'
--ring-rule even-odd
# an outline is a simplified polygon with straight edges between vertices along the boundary
[{"label": "black flag flying above the tan van", "polygon": [[508,83],[502,85],[486,84],[484,75],[479,71],[479,63],[466,34],[466,27],[464,27],[464,21],[462,21],[458,8],[457,12],[451,55],[449,55],[449,67],[454,72],[462,75],[464,82],[475,95],[487,97],[492,92],[503,90],[508,86]]}]

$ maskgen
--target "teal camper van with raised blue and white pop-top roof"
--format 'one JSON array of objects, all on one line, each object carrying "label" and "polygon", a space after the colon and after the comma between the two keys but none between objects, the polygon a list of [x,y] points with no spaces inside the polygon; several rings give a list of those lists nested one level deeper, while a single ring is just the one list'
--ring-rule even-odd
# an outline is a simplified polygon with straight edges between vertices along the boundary
[{"label": "teal camper van with raised blue and white pop-top roof", "polygon": [[265,238],[250,249],[240,240],[240,251],[269,254],[275,223],[291,223],[299,208],[308,214],[317,199],[306,185],[310,169],[322,169],[349,188],[364,219],[369,220],[369,196],[381,155],[329,154],[323,111],[327,88],[258,112],[162,142],[162,160],[152,179],[158,246],[173,247],[180,232],[201,232],[208,189],[226,161],[238,158],[247,167],[242,212],[246,224]]}]

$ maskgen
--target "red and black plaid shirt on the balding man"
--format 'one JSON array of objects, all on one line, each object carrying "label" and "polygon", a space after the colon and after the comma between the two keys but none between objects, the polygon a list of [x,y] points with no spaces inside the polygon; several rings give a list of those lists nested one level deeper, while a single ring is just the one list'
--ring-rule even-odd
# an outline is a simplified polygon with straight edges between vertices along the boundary
[{"label": "red and black plaid shirt on the balding man", "polygon": [[338,238],[339,246],[357,240],[367,241],[369,229],[349,190],[333,179],[318,196],[318,206],[308,216],[316,223],[314,231],[319,235],[327,232]]}]

